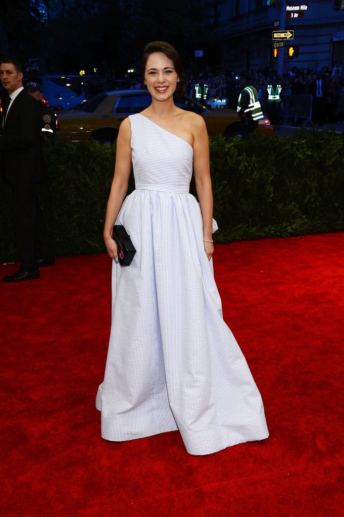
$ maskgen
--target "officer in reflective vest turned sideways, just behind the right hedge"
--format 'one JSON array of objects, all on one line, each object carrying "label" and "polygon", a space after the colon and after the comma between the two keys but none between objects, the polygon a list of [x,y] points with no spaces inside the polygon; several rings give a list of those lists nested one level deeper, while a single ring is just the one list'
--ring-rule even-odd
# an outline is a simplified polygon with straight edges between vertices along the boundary
[{"label": "officer in reflective vest turned sideways, just behind the right hedge", "polygon": [[242,86],[237,103],[237,114],[241,119],[242,135],[248,136],[253,133],[258,125],[258,120],[263,118],[263,112],[258,100],[258,93],[251,84],[252,80],[248,73],[243,73],[240,79]]}]

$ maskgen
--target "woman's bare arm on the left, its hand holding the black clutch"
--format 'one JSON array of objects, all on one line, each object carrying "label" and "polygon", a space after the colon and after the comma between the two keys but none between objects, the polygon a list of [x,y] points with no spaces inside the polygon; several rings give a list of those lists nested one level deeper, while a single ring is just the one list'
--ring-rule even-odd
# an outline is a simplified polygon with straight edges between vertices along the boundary
[{"label": "woman's bare arm on the left, its hand holding the black clutch", "polygon": [[125,118],[119,127],[117,137],[115,172],[113,175],[104,224],[104,242],[111,258],[117,258],[117,246],[112,238],[112,229],[127,193],[131,172],[130,140],[130,120],[129,118]]}]

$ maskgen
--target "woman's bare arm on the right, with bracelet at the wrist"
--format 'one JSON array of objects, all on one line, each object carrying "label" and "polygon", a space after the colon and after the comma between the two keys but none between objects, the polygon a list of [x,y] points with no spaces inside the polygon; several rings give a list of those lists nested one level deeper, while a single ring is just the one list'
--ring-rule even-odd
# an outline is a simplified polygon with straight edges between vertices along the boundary
[{"label": "woman's bare arm on the right, with bracelet at the wrist", "polygon": [[214,253],[213,191],[210,177],[209,139],[203,118],[196,115],[193,128],[193,173],[203,219],[204,250],[208,260]]}]

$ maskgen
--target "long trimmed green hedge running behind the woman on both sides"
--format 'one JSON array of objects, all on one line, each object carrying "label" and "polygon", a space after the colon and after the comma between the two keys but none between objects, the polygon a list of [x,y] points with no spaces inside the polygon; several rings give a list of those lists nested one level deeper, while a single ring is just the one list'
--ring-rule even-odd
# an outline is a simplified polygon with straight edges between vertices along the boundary
[{"label": "long trimmed green hedge running behind the woman on both sides", "polygon": [[[343,135],[299,130],[292,140],[220,138],[211,140],[210,152],[219,225],[215,240],[344,230]],[[49,179],[40,185],[39,198],[56,255],[104,251],[102,228],[115,145],[56,142],[47,144],[44,154]],[[16,260],[7,184],[0,202],[0,257]]]}]

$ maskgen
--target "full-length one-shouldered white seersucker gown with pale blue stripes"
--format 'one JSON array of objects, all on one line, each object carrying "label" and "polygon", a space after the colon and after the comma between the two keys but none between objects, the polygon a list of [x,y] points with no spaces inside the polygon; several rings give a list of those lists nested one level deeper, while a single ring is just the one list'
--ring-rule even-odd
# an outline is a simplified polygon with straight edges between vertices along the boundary
[{"label": "full-length one-shouldered white seersucker gown with pale blue stripes", "polygon": [[119,442],[179,430],[197,455],[267,438],[189,193],[192,147],[144,115],[129,118],[136,190],[116,223],[137,252],[130,266],[112,265],[110,342],[96,398],[101,435]]}]

